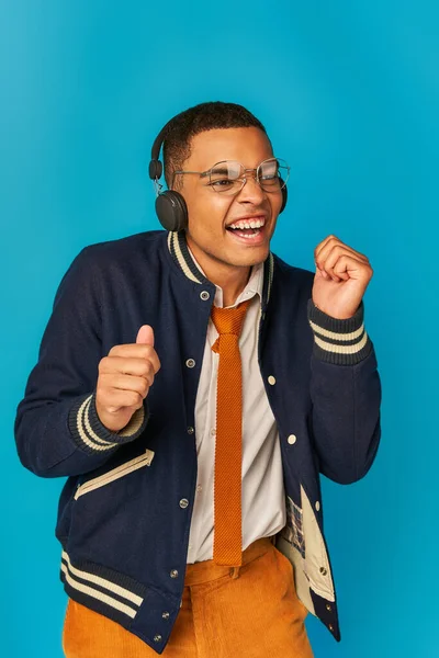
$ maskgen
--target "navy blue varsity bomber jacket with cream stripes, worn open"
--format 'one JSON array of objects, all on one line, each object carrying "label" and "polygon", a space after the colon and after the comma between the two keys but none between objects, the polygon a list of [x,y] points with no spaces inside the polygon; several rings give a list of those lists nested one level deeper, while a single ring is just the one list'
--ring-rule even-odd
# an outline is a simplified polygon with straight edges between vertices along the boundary
[{"label": "navy blue varsity bomber jacket with cream stripes, worn open", "polygon": [[[293,566],[299,598],[339,639],[319,474],[353,483],[374,460],[376,359],[363,304],[347,320],[327,316],[311,299],[314,274],[271,253],[263,276],[258,354],[279,429],[288,517],[275,545]],[[87,247],[59,285],[15,420],[22,463],[43,477],[68,476],[56,527],[68,595],[157,654],[182,598],[195,396],[214,295],[183,232]],[[135,342],[145,324],[155,330],[161,370],[144,407],[113,433],[95,411],[98,364],[113,345]]]}]

